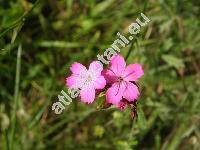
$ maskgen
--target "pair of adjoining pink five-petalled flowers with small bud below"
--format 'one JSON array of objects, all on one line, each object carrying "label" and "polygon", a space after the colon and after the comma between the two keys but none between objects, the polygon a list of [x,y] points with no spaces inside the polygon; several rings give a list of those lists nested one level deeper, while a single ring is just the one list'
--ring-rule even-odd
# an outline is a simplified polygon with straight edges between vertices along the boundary
[{"label": "pair of adjoining pink five-petalled flowers with small bud below", "polygon": [[105,91],[106,103],[123,110],[140,95],[135,81],[144,74],[142,66],[126,66],[121,55],[113,56],[108,68],[104,70],[98,61],[93,61],[88,69],[76,62],[70,70],[72,75],[66,78],[66,85],[69,88],[80,89],[80,99],[84,103],[94,102],[96,93]]}]

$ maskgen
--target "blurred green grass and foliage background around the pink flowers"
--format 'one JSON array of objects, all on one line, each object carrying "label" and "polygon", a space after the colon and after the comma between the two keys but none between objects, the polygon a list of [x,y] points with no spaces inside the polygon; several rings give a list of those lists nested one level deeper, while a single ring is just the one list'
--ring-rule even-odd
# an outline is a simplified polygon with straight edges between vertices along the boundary
[{"label": "blurred green grass and foliage background around the pink flowers", "polygon": [[[79,100],[55,115],[70,65],[88,65],[143,12],[138,118]],[[200,1],[1,0],[0,150],[199,150]]]}]

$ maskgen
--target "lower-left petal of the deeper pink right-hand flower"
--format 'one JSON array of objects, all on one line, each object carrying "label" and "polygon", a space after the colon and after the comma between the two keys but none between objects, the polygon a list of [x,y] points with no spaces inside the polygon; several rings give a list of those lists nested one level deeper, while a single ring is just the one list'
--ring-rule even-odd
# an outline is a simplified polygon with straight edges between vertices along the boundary
[{"label": "lower-left petal of the deeper pink right-hand flower", "polygon": [[117,105],[122,100],[124,89],[123,83],[114,83],[106,92],[107,102]]}]

